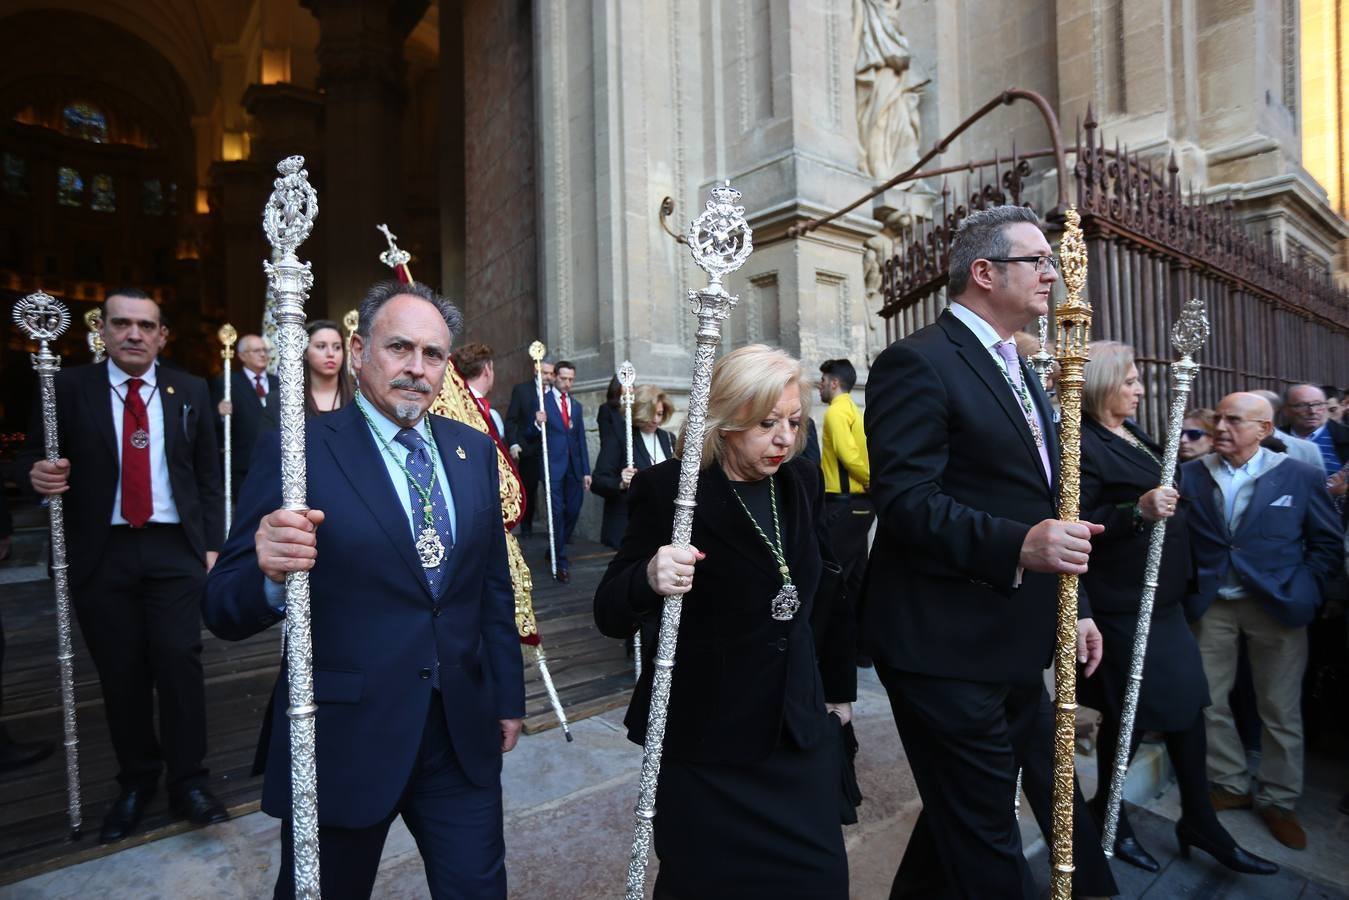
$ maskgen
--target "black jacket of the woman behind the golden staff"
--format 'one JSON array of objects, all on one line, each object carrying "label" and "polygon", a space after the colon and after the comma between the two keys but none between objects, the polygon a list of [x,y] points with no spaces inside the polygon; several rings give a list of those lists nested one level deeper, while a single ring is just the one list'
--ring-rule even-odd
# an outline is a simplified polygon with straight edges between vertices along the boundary
[{"label": "black jacket of the woman behind the golden staff", "polygon": [[[1132,424],[1125,426],[1161,459],[1161,448],[1151,437]],[[1152,528],[1135,526],[1133,507],[1160,483],[1161,467],[1156,461],[1090,416],[1082,417],[1082,518],[1105,526],[1091,538],[1091,567],[1081,579],[1095,613],[1139,611]],[[1190,569],[1190,532],[1182,507],[1167,521],[1156,609],[1184,599]]]}]

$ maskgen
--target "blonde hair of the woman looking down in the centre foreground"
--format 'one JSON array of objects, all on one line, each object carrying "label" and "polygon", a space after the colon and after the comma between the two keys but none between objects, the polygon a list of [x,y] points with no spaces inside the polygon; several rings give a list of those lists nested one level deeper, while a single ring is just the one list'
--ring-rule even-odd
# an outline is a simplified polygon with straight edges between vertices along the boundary
[{"label": "blonde hair of the woman looking down in the centre foreground", "polygon": [[[796,385],[801,393],[801,428],[786,459],[795,457],[805,447],[805,420],[811,416],[811,382],[801,368],[801,360],[785,349],[766,344],[749,344],[722,356],[712,368],[712,387],[707,398],[707,418],[703,432],[703,463],[707,468],[726,456],[726,432],[745,432],[764,421],[782,391]],[[684,455],[688,425],[680,429],[677,456]],[[785,461],[785,460],[784,460]]]}]

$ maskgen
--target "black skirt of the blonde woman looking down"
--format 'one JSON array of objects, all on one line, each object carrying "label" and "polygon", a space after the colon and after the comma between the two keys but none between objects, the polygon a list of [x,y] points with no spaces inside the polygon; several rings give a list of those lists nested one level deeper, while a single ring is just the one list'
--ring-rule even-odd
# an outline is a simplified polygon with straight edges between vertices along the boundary
[{"label": "black skirt of the blonde woman looking down", "polygon": [[847,900],[840,753],[827,739],[746,765],[662,760],[657,900]]}]

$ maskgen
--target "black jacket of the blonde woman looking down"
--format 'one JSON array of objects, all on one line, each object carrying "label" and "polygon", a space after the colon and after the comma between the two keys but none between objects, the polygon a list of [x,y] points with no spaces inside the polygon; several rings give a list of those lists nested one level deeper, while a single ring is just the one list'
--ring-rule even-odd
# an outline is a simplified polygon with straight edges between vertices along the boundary
[{"label": "black jacket of the blonde woman looking down", "polygon": [[[660,618],[664,599],[646,583],[646,564],[670,541],[679,471],[679,460],[666,460],[639,472],[629,488],[627,534],[595,591],[595,622],[608,637],[627,637],[638,623],[654,625]],[[777,563],[720,467],[703,470],[691,542],[707,559],[697,564],[693,588],[684,596],[666,756],[743,764],[768,757],[784,730],[799,746],[813,746],[827,735],[836,739],[838,725],[824,703],[854,699],[851,645],[828,645],[822,652],[830,658],[817,665],[811,629],[822,575],[819,510],[824,494],[819,470],[793,459],[776,478],[786,561],[801,609],[789,622],[773,619],[769,603],[782,587]],[[838,614],[847,615],[847,610],[840,607]],[[625,719],[627,737],[635,743],[646,738],[650,711],[654,630],[650,634],[653,640],[642,642],[642,679]],[[836,664],[838,656],[847,657],[846,667]],[[842,680],[835,680],[840,668]],[[822,683],[822,671],[830,676],[828,684]]]}]

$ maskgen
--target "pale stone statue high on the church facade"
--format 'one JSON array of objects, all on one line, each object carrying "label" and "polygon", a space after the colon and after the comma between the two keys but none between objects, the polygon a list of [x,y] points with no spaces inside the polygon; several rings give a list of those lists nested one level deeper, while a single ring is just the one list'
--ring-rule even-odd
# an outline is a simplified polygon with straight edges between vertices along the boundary
[{"label": "pale stone statue high on the church facade", "polygon": [[857,136],[862,171],[888,181],[919,158],[919,96],[928,78],[900,31],[900,0],[853,0]]}]

